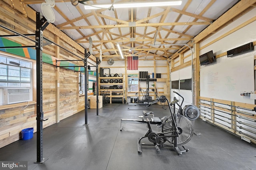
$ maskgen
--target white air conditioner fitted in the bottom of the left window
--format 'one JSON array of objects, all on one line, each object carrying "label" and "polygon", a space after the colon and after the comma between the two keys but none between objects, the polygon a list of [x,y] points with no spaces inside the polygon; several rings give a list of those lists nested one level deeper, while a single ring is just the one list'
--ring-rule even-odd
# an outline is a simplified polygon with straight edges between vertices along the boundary
[{"label": "white air conditioner fitted in the bottom of the left window", "polygon": [[30,100],[30,89],[3,89],[3,105]]}]

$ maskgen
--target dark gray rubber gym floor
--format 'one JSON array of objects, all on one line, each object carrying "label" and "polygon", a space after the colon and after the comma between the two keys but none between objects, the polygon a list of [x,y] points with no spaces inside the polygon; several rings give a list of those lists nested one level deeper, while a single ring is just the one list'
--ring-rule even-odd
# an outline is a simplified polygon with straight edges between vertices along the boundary
[{"label": "dark gray rubber gym floor", "polygon": [[194,121],[194,130],[201,135],[194,134],[185,144],[189,152],[178,156],[171,147],[157,151],[144,146],[138,154],[137,139],[146,133],[146,125],[126,123],[120,131],[120,119],[138,119],[143,110],[158,117],[170,115],[156,104],[129,109],[125,104],[108,104],[99,109],[99,116],[96,109],[88,109],[89,125],[84,125],[82,111],[44,128],[43,164],[34,163],[36,134],[0,148],[0,160],[28,161],[29,170],[256,170],[255,144],[201,119]]}]

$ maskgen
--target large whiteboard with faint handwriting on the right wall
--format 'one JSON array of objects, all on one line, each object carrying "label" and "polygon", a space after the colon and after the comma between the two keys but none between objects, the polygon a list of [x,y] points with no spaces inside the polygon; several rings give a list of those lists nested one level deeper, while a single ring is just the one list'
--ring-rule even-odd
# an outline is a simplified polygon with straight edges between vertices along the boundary
[{"label": "large whiteboard with faint handwriting on the right wall", "polygon": [[[217,59],[218,60],[218,59]],[[200,96],[254,104],[242,92],[254,91],[254,56],[228,57],[200,68]]]}]

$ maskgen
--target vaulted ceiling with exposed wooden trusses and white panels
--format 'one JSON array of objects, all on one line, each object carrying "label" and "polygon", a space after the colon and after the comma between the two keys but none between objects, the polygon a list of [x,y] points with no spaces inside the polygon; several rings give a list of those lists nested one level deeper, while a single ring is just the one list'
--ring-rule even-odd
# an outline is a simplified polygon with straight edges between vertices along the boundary
[{"label": "vaulted ceiling with exposed wooden trusses and white panels", "polygon": [[[48,0],[51,1],[51,0]],[[72,0],[75,1],[75,0]],[[84,0],[85,1],[85,0]],[[87,4],[120,3],[131,0],[88,0]],[[149,0],[133,0],[149,1]],[[239,0],[182,0],[180,6],[85,10],[84,4],[55,0],[53,7],[57,28],[89,51],[89,38],[95,57],[168,59]],[[22,0],[37,12],[45,0]],[[164,45],[163,45],[164,44]],[[176,44],[176,45],[169,45]]]}]

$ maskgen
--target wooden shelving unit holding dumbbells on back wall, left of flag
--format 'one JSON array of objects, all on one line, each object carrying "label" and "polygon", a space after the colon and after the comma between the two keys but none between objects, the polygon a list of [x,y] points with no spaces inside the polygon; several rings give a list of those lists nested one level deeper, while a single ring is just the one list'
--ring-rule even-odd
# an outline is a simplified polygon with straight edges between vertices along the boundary
[{"label": "wooden shelving unit holding dumbbells on back wall, left of flag", "polygon": [[[99,93],[108,93],[110,98],[110,103],[112,103],[112,98],[122,98],[122,103],[124,103],[124,78],[123,77],[99,77],[100,80],[118,80],[118,83],[99,83]],[[122,80],[122,83],[119,82]],[[113,87],[114,86],[114,87]],[[104,89],[102,89],[104,87]],[[112,89],[113,88],[113,89]],[[116,89],[115,89],[116,88]]]}]

